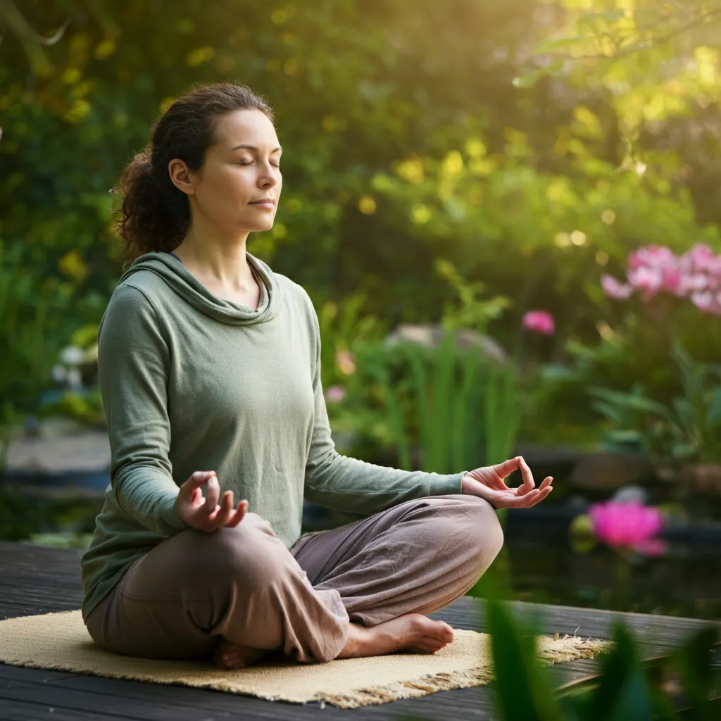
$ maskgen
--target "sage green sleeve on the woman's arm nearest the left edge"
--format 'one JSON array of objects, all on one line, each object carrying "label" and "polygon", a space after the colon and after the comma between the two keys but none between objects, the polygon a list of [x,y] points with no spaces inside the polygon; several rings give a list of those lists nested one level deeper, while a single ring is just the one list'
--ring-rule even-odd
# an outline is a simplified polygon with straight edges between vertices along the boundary
[{"label": "sage green sleeve on the woman's arm nearest the left edge", "polygon": [[168,459],[169,350],[142,291],[116,288],[98,337],[98,373],[110,436],[110,483],[123,512],[156,534],[190,526],[177,514]]}]

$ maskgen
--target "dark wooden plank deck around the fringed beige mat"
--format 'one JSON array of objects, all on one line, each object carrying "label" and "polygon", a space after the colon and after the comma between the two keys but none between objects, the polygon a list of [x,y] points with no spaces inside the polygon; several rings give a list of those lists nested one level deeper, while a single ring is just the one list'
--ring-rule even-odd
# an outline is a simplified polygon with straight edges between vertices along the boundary
[{"label": "dark wooden plank deck around the fringed beige mat", "polygon": [[[0,542],[0,619],[79,609],[80,552]],[[520,614],[541,610],[544,630],[607,638],[615,617],[634,629],[647,656],[663,653],[708,622],[644,614],[536,606],[515,603]],[[456,628],[485,630],[483,604],[462,598],[433,614]],[[593,660],[552,667],[557,684],[596,671]],[[492,719],[492,686],[441,691],[420,699],[343,710],[318,704],[268,702],[253,696],[185,686],[146,684],[115,678],[43,671],[0,663],[0,719],[4,721],[220,721],[223,719],[301,721],[317,718],[356,720],[416,717],[442,721]]]}]

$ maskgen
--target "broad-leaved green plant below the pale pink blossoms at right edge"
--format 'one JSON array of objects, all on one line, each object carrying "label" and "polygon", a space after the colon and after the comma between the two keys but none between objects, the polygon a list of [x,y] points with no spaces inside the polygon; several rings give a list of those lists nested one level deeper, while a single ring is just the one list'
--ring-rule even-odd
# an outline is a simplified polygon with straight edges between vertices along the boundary
[{"label": "broad-leaved green plant below the pale pink blossoms at right edge", "polygon": [[590,388],[593,408],[611,422],[611,444],[636,441],[660,459],[715,461],[721,453],[721,365],[698,363],[673,347],[683,394],[665,405],[637,385],[630,393]]}]

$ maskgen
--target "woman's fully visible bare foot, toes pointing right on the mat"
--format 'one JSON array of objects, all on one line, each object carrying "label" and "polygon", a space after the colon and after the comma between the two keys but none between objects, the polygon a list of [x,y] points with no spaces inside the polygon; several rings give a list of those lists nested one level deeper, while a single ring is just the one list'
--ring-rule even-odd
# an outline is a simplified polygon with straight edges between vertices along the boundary
[{"label": "woman's fully visible bare foot, toes pointing right on the mat", "polygon": [[335,658],[380,656],[395,651],[435,653],[454,640],[453,629],[423,614],[405,614],[377,626],[348,624],[348,640]]}]

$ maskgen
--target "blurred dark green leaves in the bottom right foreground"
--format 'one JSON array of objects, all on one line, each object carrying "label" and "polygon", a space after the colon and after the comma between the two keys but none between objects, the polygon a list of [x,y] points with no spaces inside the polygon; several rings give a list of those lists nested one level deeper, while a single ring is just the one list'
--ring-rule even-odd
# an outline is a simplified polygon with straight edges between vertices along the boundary
[{"label": "blurred dark green leaves in the bottom right foreground", "polygon": [[715,718],[709,694],[714,687],[712,648],[721,642],[717,627],[702,629],[671,653],[643,661],[631,632],[616,623],[611,650],[601,653],[599,673],[554,690],[536,655],[539,624],[520,622],[497,598],[487,602],[487,612],[496,708],[505,721],[664,721],[678,718],[678,707],[684,718]]}]

